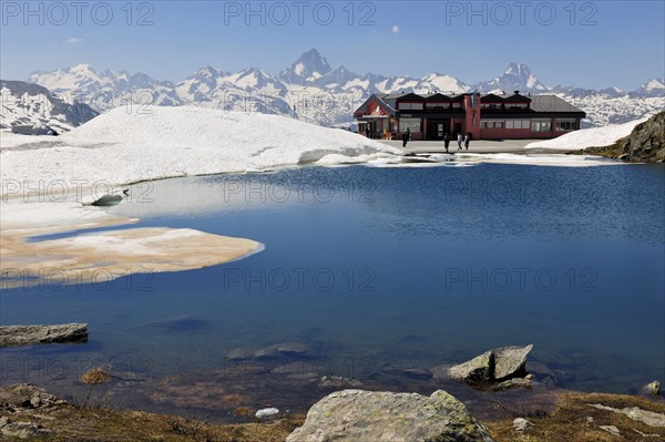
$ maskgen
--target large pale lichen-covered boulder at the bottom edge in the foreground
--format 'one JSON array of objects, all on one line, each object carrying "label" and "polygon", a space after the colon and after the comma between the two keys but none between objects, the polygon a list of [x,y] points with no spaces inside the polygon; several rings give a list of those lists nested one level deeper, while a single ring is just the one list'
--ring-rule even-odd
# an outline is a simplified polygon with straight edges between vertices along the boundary
[{"label": "large pale lichen-covered boulder at the bottom edge in the foreground", "polygon": [[463,403],[446,391],[344,390],[314,404],[287,442],[492,442]]}]

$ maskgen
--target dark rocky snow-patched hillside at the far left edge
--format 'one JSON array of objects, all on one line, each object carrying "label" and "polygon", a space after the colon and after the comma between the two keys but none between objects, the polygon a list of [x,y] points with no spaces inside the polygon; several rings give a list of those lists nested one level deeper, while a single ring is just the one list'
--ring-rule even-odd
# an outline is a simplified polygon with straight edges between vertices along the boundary
[{"label": "dark rocky snow-patched hillside at the far left edge", "polygon": [[25,126],[32,132],[73,127],[98,115],[84,103],[68,102],[45,88],[22,81],[0,81],[0,129]]}]

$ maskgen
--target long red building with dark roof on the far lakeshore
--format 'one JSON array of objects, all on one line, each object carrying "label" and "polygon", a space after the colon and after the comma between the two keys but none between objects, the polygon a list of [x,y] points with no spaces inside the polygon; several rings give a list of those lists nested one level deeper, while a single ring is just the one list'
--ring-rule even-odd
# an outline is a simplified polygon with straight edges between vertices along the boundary
[{"label": "long red building with dark roof on the far lakeshore", "polygon": [[556,95],[374,94],[354,113],[358,132],[375,138],[554,138],[580,129],[586,114]]}]

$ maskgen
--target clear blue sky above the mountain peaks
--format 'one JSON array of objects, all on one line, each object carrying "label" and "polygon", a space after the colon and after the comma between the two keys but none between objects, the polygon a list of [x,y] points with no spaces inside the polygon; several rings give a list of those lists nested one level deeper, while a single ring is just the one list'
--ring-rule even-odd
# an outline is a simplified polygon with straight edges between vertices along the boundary
[{"label": "clear blue sky above the mountain peaks", "polygon": [[311,48],[334,68],[467,83],[510,62],[548,85],[665,76],[663,0],[1,3],[0,76],[12,80],[78,63],[171,81],[206,64],[277,73]]}]

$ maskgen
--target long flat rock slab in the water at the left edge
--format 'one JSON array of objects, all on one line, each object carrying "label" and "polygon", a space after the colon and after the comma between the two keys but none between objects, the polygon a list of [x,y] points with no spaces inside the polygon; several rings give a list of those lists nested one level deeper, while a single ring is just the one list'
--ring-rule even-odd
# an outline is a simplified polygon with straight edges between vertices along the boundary
[{"label": "long flat rock slab in the water at the left edge", "polygon": [[88,323],[0,327],[0,347],[88,342]]}]

